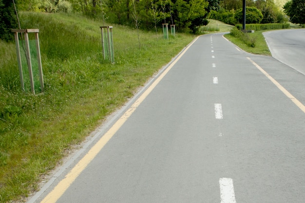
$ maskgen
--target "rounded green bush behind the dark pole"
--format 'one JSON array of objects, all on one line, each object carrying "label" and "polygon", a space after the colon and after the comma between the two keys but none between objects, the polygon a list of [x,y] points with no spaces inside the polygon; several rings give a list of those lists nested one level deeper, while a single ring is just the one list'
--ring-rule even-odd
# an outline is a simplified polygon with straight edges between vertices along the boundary
[{"label": "rounded green bush behind the dark pole", "polygon": [[[262,12],[255,7],[246,7],[246,23],[261,23],[263,19]],[[234,18],[239,22],[243,22],[243,9],[240,8],[235,12]]]}]

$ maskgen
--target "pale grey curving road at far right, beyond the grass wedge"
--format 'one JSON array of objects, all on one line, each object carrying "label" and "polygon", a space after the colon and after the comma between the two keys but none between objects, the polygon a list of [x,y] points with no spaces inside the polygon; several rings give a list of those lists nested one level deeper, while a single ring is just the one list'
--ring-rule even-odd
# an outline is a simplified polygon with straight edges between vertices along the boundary
[{"label": "pale grey curving road at far right, beyond the grass wedge", "polygon": [[274,58],[305,74],[305,29],[263,33]]}]

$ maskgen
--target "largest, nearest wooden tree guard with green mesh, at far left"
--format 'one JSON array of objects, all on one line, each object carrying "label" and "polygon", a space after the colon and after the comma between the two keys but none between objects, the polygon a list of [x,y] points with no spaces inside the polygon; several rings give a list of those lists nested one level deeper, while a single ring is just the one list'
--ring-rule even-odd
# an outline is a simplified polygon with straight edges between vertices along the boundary
[{"label": "largest, nearest wooden tree guard with green mesh, at far left", "polygon": [[41,55],[40,55],[40,47],[39,47],[39,37],[38,37],[39,30],[38,29],[12,29],[12,32],[14,33],[15,41],[16,41],[17,61],[18,61],[18,67],[19,67],[19,78],[20,78],[21,89],[23,91],[26,91],[25,87],[24,87],[24,79],[23,79],[23,73],[22,73],[22,61],[21,61],[20,45],[19,45],[19,33],[20,33],[20,35],[22,35],[22,33],[24,34],[25,57],[26,57],[26,61],[27,61],[28,71],[29,71],[31,92],[33,94],[35,94],[35,84],[34,84],[34,76],[33,76],[33,68],[32,68],[31,51],[30,51],[28,33],[34,33],[35,41],[36,41],[37,60],[38,60],[37,62],[38,62],[38,75],[39,75],[40,91],[43,92],[44,85],[43,85],[43,74],[42,74]]}]

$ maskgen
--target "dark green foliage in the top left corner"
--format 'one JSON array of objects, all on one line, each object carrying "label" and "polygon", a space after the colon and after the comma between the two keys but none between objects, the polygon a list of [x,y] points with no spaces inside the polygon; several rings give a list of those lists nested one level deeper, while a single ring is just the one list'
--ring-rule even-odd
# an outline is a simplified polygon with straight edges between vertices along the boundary
[{"label": "dark green foliage in the top left corner", "polygon": [[17,16],[12,0],[0,0],[0,39],[13,39],[11,29],[18,28]]}]

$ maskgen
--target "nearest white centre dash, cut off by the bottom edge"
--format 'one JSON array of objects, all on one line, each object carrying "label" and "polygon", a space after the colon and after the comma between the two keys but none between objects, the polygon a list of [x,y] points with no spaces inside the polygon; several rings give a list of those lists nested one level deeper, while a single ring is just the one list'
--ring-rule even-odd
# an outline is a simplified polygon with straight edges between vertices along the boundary
[{"label": "nearest white centre dash, cut off by the bottom edge", "polygon": [[221,203],[236,203],[233,180],[231,178],[219,179]]}]

